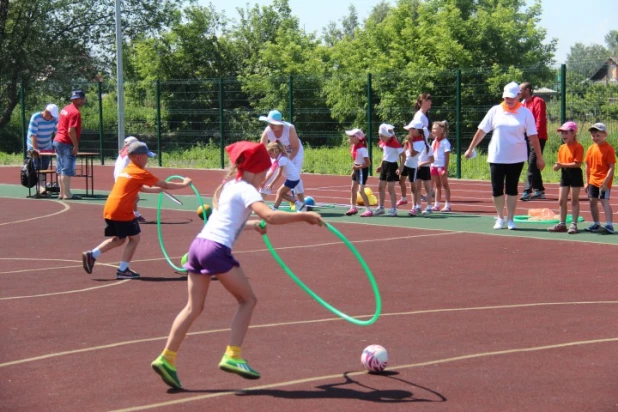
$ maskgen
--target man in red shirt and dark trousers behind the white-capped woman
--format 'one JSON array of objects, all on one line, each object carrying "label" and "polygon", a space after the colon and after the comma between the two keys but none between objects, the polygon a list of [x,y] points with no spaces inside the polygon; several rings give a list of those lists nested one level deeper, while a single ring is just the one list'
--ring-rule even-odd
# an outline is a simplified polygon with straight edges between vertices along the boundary
[{"label": "man in red shirt and dark trousers behind the white-capped woman", "polygon": [[[532,86],[529,82],[523,82],[520,84],[519,91],[521,93],[521,97],[524,99],[521,102],[522,105],[528,108],[534,116],[542,155],[543,149],[545,148],[545,143],[547,142],[547,110],[545,108],[545,100],[532,94]],[[527,201],[532,199],[545,199],[543,177],[541,176],[541,171],[536,165],[537,155],[534,153],[534,149],[530,147],[530,143],[527,138],[526,143],[528,144],[528,177],[526,179],[526,184],[524,185],[524,193],[521,196],[521,200]],[[534,190],[534,193],[532,190]]]}]

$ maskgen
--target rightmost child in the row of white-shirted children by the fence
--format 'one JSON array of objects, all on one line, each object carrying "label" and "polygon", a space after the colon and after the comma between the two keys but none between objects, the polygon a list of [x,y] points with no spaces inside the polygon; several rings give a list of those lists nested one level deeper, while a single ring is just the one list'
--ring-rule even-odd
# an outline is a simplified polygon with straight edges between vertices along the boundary
[{"label": "rightmost child in the row of white-shirted children by the fence", "polygon": [[431,134],[434,137],[434,141],[431,144],[434,158],[431,164],[431,180],[436,188],[436,198],[431,210],[440,210],[440,198],[442,197],[442,188],[444,188],[446,204],[441,211],[450,212],[451,188],[448,185],[448,163],[451,154],[451,143],[446,138],[448,135],[448,123],[446,120],[434,122],[431,127]]}]

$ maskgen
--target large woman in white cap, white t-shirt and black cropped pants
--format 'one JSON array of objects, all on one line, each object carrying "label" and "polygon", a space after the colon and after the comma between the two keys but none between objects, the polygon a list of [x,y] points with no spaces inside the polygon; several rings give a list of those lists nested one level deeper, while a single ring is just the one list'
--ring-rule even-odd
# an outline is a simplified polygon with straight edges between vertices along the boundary
[{"label": "large woman in white cap, white t-shirt and black cropped pants", "polygon": [[534,152],[539,154],[537,157],[539,170],[545,168],[534,116],[519,102],[519,92],[519,85],[515,82],[504,86],[502,93],[504,101],[489,109],[465,153],[466,158],[473,157],[476,146],[487,133],[493,132],[487,151],[487,162],[491,174],[494,206],[498,214],[494,229],[504,228],[505,203],[507,228],[510,230],[517,229],[513,218],[517,206],[519,176],[524,167],[524,162],[528,159],[526,135],[530,145],[534,148]]}]

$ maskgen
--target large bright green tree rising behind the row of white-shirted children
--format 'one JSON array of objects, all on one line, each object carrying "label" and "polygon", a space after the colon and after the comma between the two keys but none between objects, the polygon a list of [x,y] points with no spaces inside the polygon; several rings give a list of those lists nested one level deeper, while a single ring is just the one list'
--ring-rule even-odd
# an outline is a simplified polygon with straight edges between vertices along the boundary
[{"label": "large bright green tree rising behind the row of white-shirted children", "polygon": [[[379,10],[354,39],[333,47],[334,66],[345,73],[335,74],[325,86],[337,119],[347,119],[365,100],[362,82],[368,72],[376,74],[376,115],[393,123],[409,121],[421,91],[435,96],[434,113],[453,112],[456,68],[487,68],[470,74],[462,91],[463,102],[471,106],[499,99],[496,70],[523,81],[523,73],[508,68],[534,67],[525,80],[535,84],[552,76],[548,67],[556,42],[545,43],[538,2],[526,8],[524,0],[399,0]],[[351,74],[356,81],[343,80]],[[362,124],[363,113],[357,113],[361,117],[355,122]]]}]

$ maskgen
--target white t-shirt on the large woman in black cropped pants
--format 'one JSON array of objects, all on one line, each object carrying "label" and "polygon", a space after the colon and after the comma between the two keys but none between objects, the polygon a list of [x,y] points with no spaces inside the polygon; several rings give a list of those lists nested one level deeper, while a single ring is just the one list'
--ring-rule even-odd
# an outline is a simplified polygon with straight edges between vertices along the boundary
[{"label": "white t-shirt on the large woman in black cropped pants", "polygon": [[528,160],[525,134],[536,135],[537,130],[534,116],[527,108],[521,106],[517,113],[510,113],[501,105],[494,106],[489,109],[478,128],[485,133],[493,131],[487,150],[487,162],[512,164]]}]

